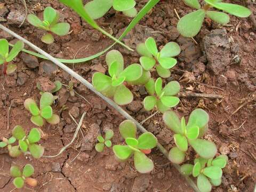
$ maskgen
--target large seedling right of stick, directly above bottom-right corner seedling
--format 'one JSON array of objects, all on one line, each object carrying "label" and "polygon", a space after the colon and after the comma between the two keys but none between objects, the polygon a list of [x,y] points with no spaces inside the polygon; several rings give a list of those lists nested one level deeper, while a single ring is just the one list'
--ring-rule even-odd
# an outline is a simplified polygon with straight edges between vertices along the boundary
[{"label": "large seedling right of stick, directly above bottom-right corner seedling", "polygon": [[208,130],[209,115],[203,109],[193,110],[187,125],[185,118],[182,117],[180,121],[174,111],[166,111],[163,119],[167,127],[175,133],[173,137],[177,147],[173,147],[169,152],[171,162],[180,164],[184,161],[188,144],[203,158],[210,159],[215,156],[217,147],[214,142],[198,139]]}]

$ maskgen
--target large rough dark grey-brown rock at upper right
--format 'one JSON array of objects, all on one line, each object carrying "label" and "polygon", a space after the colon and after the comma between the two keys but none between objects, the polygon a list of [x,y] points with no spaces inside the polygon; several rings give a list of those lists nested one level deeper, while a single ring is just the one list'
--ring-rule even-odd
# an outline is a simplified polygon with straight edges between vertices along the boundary
[{"label": "large rough dark grey-brown rock at upper right", "polygon": [[207,68],[219,75],[230,64],[230,45],[226,29],[214,29],[203,38]]}]

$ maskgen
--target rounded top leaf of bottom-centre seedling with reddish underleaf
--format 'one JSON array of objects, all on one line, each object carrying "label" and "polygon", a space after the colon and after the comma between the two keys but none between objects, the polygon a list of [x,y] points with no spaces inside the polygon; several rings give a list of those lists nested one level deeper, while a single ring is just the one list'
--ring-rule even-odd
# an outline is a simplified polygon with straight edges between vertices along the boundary
[{"label": "rounded top leaf of bottom-centre seedling with reddish underleaf", "polygon": [[119,132],[124,139],[135,138],[137,133],[137,127],[135,123],[127,119],[119,125]]}]

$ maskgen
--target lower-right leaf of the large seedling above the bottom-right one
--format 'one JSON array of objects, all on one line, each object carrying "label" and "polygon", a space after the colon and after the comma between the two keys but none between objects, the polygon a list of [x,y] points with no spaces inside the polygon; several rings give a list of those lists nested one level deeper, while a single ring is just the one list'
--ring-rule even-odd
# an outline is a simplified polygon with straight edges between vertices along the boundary
[{"label": "lower-right leaf of the large seedling above the bottom-right one", "polygon": [[217,147],[214,142],[203,139],[188,140],[189,144],[198,153],[199,156],[209,159],[217,153]]}]

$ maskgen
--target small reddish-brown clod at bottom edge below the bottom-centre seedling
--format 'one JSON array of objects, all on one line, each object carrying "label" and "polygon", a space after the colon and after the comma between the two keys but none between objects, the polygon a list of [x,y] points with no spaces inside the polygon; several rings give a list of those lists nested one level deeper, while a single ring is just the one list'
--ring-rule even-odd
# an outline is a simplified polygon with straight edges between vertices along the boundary
[{"label": "small reddish-brown clod at bottom edge below the bottom-centre seedling", "polygon": [[151,176],[147,174],[141,174],[134,179],[132,186],[132,192],[142,192],[146,191],[149,187]]}]

